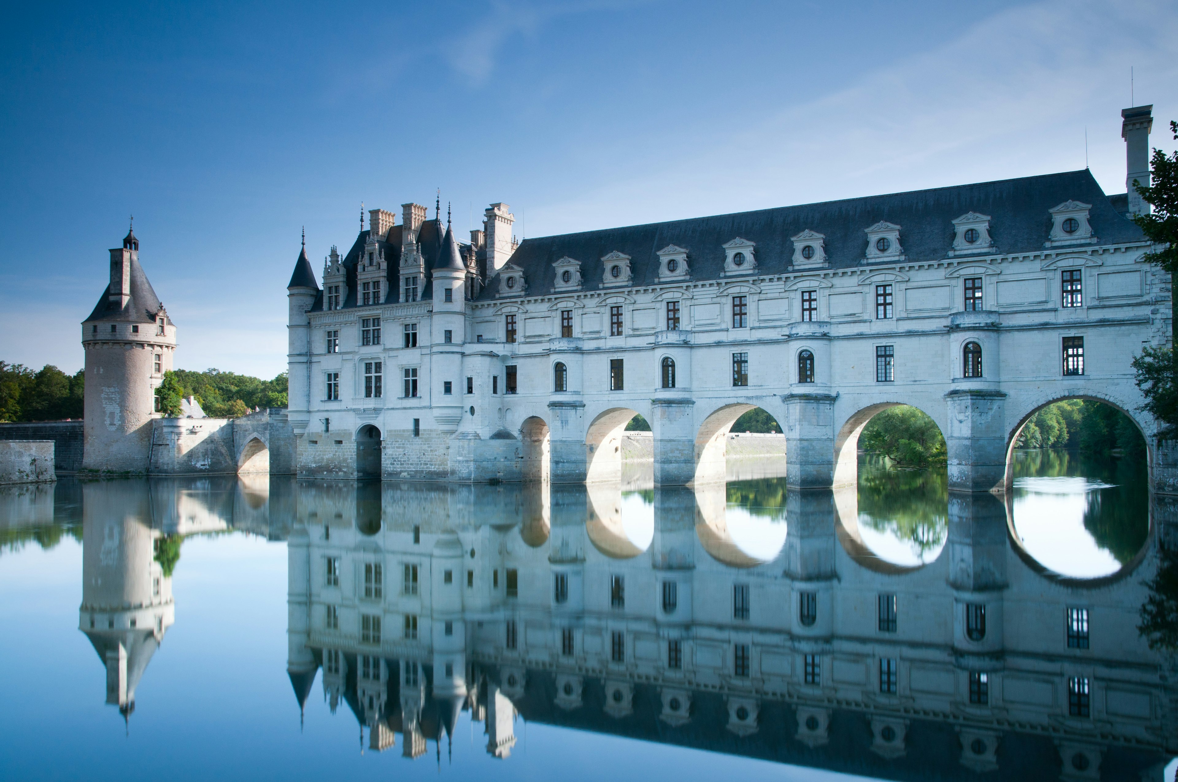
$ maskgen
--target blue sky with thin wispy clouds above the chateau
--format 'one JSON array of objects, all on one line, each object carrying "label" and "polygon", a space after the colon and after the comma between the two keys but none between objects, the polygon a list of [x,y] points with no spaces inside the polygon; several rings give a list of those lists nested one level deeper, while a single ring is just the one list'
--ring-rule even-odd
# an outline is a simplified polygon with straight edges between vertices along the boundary
[{"label": "blue sky with thin wispy clouds above the chateau", "polygon": [[1124,192],[1131,66],[1178,119],[1160,1],[25,4],[0,44],[0,359],[67,371],[130,213],[176,365],[272,377],[300,227],[318,273],[360,201],[543,236],[1083,168],[1085,130]]}]

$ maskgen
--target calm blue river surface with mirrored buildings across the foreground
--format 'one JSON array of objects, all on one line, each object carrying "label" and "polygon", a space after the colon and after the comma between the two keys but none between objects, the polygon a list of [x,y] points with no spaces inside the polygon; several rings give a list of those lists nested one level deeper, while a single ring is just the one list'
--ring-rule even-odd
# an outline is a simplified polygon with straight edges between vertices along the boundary
[{"label": "calm blue river surface with mirrored buildings across the foreground", "polygon": [[1005,498],[866,457],[833,492],[8,490],[0,773],[1162,780],[1159,502],[1066,452]]}]

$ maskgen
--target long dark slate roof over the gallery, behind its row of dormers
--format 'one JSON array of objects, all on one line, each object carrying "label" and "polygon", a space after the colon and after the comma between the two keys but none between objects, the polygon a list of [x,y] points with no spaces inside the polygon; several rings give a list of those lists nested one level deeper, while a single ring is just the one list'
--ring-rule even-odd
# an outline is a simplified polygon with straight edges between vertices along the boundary
[{"label": "long dark slate roof over the gallery, behind its row of dormers", "polygon": [[[722,245],[740,237],[755,243],[759,274],[780,274],[792,265],[790,237],[809,228],[826,237],[830,267],[849,269],[866,256],[863,230],[880,220],[900,226],[900,245],[909,261],[939,260],[953,246],[952,220],[971,211],[991,217],[995,252],[1038,252],[1051,230],[1047,210],[1068,199],[1092,205],[1090,223],[1103,243],[1145,239],[1110,204],[1091,172],[1083,170],[524,239],[511,263],[524,270],[531,296],[552,290],[552,263],[565,256],[581,261],[582,290],[595,291],[602,283],[601,258],[616,250],[633,259],[636,287],[659,283],[655,253],[674,244],[687,248],[693,280],[719,279],[724,266]],[[479,298],[492,298],[496,290],[491,283]]]}]

